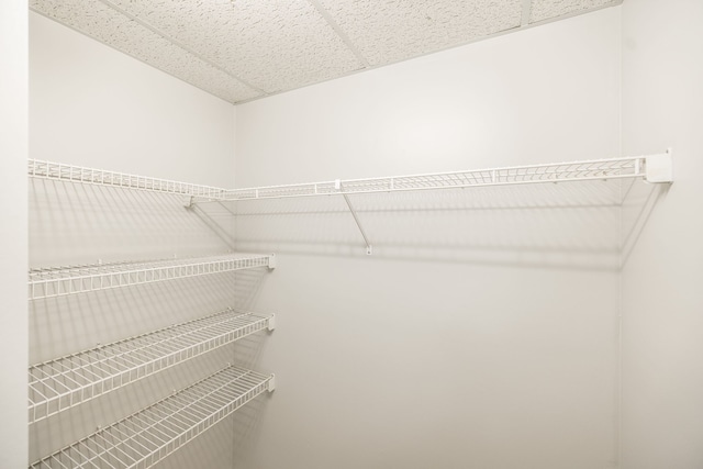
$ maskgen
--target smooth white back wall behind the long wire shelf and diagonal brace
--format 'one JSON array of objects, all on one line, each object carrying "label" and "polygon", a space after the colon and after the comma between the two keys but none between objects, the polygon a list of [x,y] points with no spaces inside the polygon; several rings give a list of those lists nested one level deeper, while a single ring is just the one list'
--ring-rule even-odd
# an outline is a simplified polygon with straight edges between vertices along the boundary
[{"label": "smooth white back wall behind the long wire shelf and diagonal brace", "polygon": [[[237,107],[238,187],[620,154],[620,9]],[[278,267],[237,468],[615,466],[620,187],[239,202]],[[243,282],[247,278],[242,279]],[[254,348],[254,350],[258,350]]]}]

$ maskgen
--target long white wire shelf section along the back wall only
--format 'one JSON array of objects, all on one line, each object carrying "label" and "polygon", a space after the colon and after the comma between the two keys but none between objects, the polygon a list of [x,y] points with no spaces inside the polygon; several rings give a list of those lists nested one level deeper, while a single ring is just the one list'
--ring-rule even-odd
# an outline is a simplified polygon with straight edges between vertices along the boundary
[{"label": "long white wire shelf section along the back wall only", "polygon": [[337,179],[324,182],[234,189],[227,190],[224,193],[223,199],[257,200],[334,194],[348,196],[358,193],[460,189],[469,187],[622,178],[644,178],[650,182],[671,182],[670,177],[662,178],[660,176],[662,166],[665,166],[665,170],[668,166],[668,171],[670,172],[670,155],[667,153],[662,155],[633,156],[547,165],[514,166],[505,168],[371,179]]}]

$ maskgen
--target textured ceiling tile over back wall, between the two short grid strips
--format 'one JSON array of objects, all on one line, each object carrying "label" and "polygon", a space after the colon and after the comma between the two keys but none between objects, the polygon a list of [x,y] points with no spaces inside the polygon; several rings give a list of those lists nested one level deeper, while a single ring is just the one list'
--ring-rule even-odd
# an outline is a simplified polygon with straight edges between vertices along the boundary
[{"label": "textured ceiling tile over back wall, between the two short grid strips", "polygon": [[319,0],[361,55],[383,65],[517,27],[522,0]]}]

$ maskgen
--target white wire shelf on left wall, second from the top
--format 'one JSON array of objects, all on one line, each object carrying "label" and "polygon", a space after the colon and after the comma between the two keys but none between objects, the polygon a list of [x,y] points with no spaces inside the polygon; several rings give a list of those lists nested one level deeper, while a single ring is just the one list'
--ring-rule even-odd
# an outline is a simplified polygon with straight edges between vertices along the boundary
[{"label": "white wire shelf on left wall, second from the top", "polygon": [[153,283],[257,267],[275,267],[275,255],[231,254],[200,258],[110,263],[30,269],[29,299]]}]

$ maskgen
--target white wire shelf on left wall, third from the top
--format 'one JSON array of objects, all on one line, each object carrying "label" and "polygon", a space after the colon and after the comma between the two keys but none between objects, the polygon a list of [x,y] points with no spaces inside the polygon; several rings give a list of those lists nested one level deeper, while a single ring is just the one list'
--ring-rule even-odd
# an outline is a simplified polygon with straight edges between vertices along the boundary
[{"label": "white wire shelf on left wall, third from the top", "polygon": [[140,379],[275,327],[274,316],[225,310],[30,367],[34,423]]}]

